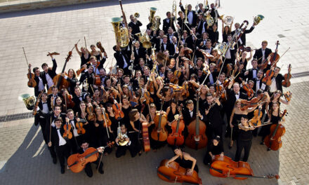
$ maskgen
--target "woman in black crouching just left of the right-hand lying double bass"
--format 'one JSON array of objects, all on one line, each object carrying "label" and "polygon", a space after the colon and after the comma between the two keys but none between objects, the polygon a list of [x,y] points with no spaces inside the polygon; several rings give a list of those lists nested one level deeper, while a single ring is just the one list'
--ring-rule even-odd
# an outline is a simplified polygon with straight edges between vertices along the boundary
[{"label": "woman in black crouching just left of the right-hand lying double bass", "polygon": [[210,165],[216,155],[224,156],[223,142],[221,142],[221,137],[218,135],[208,143],[206,155],[203,160],[204,164]]}]

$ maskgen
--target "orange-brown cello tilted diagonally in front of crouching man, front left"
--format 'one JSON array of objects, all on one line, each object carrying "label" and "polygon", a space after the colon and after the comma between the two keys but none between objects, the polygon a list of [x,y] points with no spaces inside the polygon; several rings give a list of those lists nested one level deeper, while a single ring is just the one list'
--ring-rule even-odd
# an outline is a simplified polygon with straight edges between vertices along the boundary
[{"label": "orange-brown cello tilted diagonally in front of crouching man, front left", "polygon": [[[107,146],[101,146],[100,149],[105,149],[107,147],[112,147],[114,142],[107,144]],[[70,170],[74,173],[81,172],[86,167],[87,163],[92,163],[98,160],[99,151],[93,147],[89,147],[84,151],[84,153],[72,154],[69,158],[67,158],[67,166],[70,167]]]}]

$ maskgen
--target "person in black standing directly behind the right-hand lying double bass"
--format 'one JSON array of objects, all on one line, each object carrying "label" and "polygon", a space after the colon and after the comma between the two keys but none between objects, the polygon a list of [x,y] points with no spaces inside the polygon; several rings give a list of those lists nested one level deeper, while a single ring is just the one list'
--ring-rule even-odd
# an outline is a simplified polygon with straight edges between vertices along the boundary
[{"label": "person in black standing directly behind the right-hand lying double bass", "polygon": [[242,161],[246,162],[249,158],[249,153],[251,149],[252,144],[252,130],[255,129],[255,127],[249,126],[248,118],[246,115],[243,115],[241,118],[241,123],[238,125],[239,128],[239,135],[237,138],[237,150],[235,154],[235,161],[238,162],[240,160],[240,157],[242,155],[242,149],[244,149],[244,158],[242,158]]}]

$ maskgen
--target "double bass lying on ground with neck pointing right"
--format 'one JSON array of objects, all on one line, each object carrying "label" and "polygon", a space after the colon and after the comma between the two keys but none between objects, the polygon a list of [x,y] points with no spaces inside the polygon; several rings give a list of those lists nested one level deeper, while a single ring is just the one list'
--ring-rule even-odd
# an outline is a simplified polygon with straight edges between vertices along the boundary
[{"label": "double bass lying on ground with neck pointing right", "polygon": [[249,163],[239,161],[235,162],[227,156],[221,157],[216,155],[211,167],[209,169],[211,175],[215,177],[232,177],[234,179],[248,179],[250,177],[254,178],[267,178],[267,179],[279,179],[279,175],[268,175],[268,176],[256,176],[254,175],[253,170],[251,169]]}]

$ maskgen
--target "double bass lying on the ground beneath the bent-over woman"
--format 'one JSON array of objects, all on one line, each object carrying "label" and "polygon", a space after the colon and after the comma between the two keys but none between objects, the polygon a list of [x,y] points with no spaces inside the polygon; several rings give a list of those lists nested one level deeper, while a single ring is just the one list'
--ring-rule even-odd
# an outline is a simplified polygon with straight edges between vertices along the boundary
[{"label": "double bass lying on the ground beneath the bent-over woman", "polygon": [[178,181],[192,184],[202,184],[202,179],[199,178],[199,174],[197,174],[196,171],[193,171],[192,175],[187,175],[187,169],[180,167],[180,165],[175,161],[169,163],[169,167],[166,167],[165,164],[168,161],[169,160],[167,159],[162,160],[160,166],[158,167],[157,174],[160,179],[169,182]]}]

